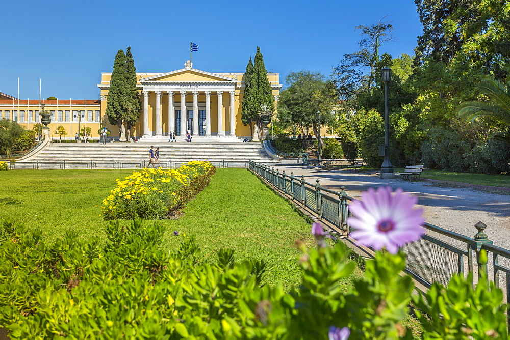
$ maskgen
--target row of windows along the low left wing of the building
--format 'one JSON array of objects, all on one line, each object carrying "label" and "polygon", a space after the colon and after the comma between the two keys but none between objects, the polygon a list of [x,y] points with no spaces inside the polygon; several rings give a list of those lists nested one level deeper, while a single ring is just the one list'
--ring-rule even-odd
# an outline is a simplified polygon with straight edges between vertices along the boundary
[{"label": "row of windows along the low left wing of the building", "polygon": [[[25,112],[27,113],[26,116],[25,116]],[[57,115],[55,115],[55,111],[50,110],[50,112],[52,112],[52,114],[53,114],[51,117],[52,122],[55,122],[55,119],[57,119],[56,121],[59,123],[62,123],[62,122],[70,123],[71,122],[71,111],[70,110],[64,110],[64,111],[57,110]],[[34,116],[34,113],[35,113],[35,116]],[[65,114],[65,116],[64,116],[64,114]],[[78,117],[80,117],[80,122],[88,122],[88,123],[96,122],[96,123],[98,123],[100,120],[99,110],[87,110],[87,115],[85,115],[85,110],[72,110],[72,121],[78,122]],[[4,111],[0,110],[0,119],[10,119],[10,120],[13,120],[15,122],[20,122],[20,123],[32,123],[32,122],[38,123],[41,119],[41,116],[39,115],[39,111],[32,111],[32,110],[29,110],[29,111],[20,110],[19,116],[18,116],[18,111],[14,110],[14,111],[12,111],[12,118],[11,118],[10,110],[4,110]]]}]

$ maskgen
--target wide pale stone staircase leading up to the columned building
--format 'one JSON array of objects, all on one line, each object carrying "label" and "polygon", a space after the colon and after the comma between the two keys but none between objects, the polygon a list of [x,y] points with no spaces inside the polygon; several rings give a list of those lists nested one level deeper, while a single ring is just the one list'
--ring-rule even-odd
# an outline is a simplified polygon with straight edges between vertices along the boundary
[{"label": "wide pale stone staircase leading up to the columned building", "polygon": [[[247,166],[251,161],[274,163],[260,143],[52,143],[16,168],[132,168],[146,166],[150,146],[160,148],[160,162],[184,163],[206,160],[216,166]],[[34,163],[36,165],[34,165]],[[131,164],[130,164],[131,163]],[[62,165],[64,164],[64,165]]]}]

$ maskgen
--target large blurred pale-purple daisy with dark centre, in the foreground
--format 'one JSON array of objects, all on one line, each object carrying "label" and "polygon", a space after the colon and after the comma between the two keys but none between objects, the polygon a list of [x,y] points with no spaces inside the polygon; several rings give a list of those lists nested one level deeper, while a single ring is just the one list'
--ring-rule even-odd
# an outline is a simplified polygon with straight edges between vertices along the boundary
[{"label": "large blurred pale-purple daisy with dark centre, in the foreground", "polygon": [[399,247],[418,241],[425,233],[423,209],[413,209],[418,199],[402,189],[392,195],[390,187],[370,188],[361,198],[349,205],[355,217],[349,217],[347,223],[355,229],[350,236],[362,245],[376,250],[386,247],[395,254]]}]

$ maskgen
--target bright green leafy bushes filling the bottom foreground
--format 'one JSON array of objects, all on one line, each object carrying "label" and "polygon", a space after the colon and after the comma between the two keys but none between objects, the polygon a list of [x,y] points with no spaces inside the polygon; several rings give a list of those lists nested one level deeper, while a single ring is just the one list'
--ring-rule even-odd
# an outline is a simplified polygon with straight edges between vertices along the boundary
[{"label": "bright green leafy bushes filling the bottom foreground", "polygon": [[[0,227],[0,325],[10,338],[303,338],[327,339],[331,327],[350,338],[413,338],[401,325],[414,284],[400,273],[403,253],[377,252],[365,276],[346,290],[349,251],[301,243],[299,287],[261,286],[262,260],[236,262],[235,251],[200,256],[195,239],[163,246],[165,226],[110,222],[107,241],[68,232],[46,243],[38,230],[7,220]],[[422,338],[506,338],[500,289],[454,276],[414,303]]]}]

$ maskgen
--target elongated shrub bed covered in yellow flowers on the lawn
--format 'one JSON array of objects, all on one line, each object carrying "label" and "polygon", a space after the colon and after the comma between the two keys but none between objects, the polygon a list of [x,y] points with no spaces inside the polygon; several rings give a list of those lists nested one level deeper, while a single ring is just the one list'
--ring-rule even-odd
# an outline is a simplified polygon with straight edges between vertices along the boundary
[{"label": "elongated shrub bed covered in yellow flowers on the lawn", "polygon": [[164,218],[203,189],[215,171],[205,161],[188,162],[177,169],[144,168],[117,179],[103,200],[101,215],[106,220]]}]

